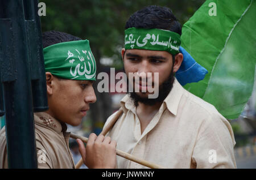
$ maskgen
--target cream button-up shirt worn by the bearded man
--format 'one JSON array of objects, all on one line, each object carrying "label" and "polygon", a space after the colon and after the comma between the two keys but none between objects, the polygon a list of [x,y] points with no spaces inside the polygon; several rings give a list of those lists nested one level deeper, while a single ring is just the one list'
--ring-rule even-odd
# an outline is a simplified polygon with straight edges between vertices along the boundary
[{"label": "cream button-up shirt worn by the bearded man", "polygon": [[[165,168],[236,168],[236,142],[230,123],[176,79],[142,134],[128,95],[121,100],[121,108],[123,114],[107,134],[117,141],[117,149]],[[147,167],[117,156],[117,168]]]}]

